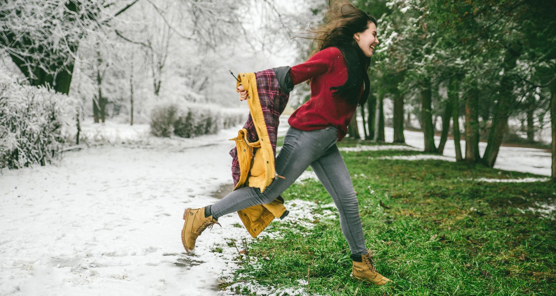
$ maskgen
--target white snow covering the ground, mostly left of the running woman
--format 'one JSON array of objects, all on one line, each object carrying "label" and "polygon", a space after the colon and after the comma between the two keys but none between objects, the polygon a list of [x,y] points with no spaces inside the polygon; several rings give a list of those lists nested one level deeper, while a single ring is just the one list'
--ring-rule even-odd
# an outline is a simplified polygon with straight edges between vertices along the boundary
[{"label": "white snow covering the ground, mostly left of the running woman", "polygon": [[[279,136],[289,128],[287,117],[281,122]],[[149,137],[145,126],[109,124],[95,134],[111,143],[133,142],[69,151],[60,163],[46,167],[4,170],[0,295],[232,293],[217,292],[240,256],[229,243],[233,239],[241,248],[242,239],[251,239],[237,214],[221,217],[222,227],[205,230],[193,254],[185,253],[178,233],[183,209],[214,203],[211,192],[231,183],[228,152],[234,141],[227,139],[239,128],[193,139],[158,139]],[[386,134],[391,137],[391,129]],[[419,147],[418,135],[406,132],[406,137]],[[523,163],[512,169],[529,169],[538,156],[515,149]],[[510,158],[505,153],[502,149],[500,159]],[[299,180],[306,178],[314,174]],[[287,201],[291,212],[280,223],[301,223],[311,215],[308,205],[295,210],[296,202],[301,204]],[[335,213],[332,208],[330,217]],[[303,294],[303,285],[291,292]]]}]

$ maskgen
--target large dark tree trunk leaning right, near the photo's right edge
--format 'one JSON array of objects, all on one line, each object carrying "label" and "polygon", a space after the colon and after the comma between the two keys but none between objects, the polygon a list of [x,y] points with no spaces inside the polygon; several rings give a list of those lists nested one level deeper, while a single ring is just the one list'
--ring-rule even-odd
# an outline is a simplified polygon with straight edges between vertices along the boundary
[{"label": "large dark tree trunk leaning right, near the photo's right edge", "polygon": [[[515,46],[519,46],[519,43],[516,43]],[[502,81],[500,81],[500,93],[498,102],[494,105],[492,127],[490,128],[488,143],[486,144],[485,153],[483,155],[483,163],[490,168],[494,167],[500,150],[500,144],[502,144],[504,133],[508,128],[508,118],[512,111],[511,101],[514,99],[512,93],[513,78],[510,76],[510,72],[515,68],[517,58],[520,54],[520,48],[508,48],[504,56],[504,74],[502,76]]]}]

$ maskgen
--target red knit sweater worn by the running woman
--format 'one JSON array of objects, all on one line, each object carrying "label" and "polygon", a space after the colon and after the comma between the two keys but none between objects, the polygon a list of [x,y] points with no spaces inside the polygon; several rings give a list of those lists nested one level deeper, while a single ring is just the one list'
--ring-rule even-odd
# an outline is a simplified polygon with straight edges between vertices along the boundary
[{"label": "red knit sweater worn by the running woman", "polygon": [[[329,87],[341,86],[347,79],[347,67],[340,49],[328,47],[317,52],[306,62],[291,67],[292,82],[299,84],[311,79],[311,98],[291,114],[290,126],[301,131],[314,131],[330,125],[338,129],[338,142],[347,134],[347,126],[357,104],[347,103],[345,97],[332,97]],[[363,94],[363,85],[359,99]]]}]

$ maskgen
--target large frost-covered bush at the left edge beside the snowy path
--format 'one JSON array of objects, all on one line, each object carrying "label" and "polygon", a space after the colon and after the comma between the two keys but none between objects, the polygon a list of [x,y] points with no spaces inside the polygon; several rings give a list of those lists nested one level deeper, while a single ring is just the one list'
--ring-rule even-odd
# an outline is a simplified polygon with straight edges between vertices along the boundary
[{"label": "large frost-covered bush at the left edge beside the snowy path", "polygon": [[52,89],[21,85],[0,74],[0,169],[59,159],[73,103]]}]

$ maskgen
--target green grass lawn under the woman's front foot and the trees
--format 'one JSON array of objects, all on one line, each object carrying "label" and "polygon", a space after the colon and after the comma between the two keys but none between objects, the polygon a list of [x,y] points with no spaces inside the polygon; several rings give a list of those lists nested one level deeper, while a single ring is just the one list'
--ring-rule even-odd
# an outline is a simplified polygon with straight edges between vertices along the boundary
[{"label": "green grass lawn under the woman's front foot and the trees", "polygon": [[[355,142],[342,140],[338,146]],[[299,234],[304,229],[274,220],[267,230],[279,230],[282,238],[254,240],[249,255],[258,263],[244,262],[236,274],[266,287],[307,292],[297,283],[305,279],[308,293],[321,295],[556,294],[556,220],[518,210],[538,207],[535,202],[553,204],[556,185],[466,180],[545,177],[481,165],[369,158],[414,154],[419,152],[342,152],[366,245],[376,254],[377,270],[395,284],[370,286],[349,277],[349,247],[337,219],[316,222],[306,237]],[[282,196],[332,202],[317,181],[294,183]]]}]

